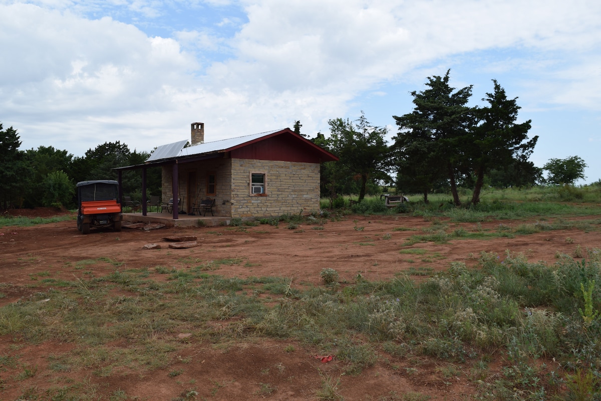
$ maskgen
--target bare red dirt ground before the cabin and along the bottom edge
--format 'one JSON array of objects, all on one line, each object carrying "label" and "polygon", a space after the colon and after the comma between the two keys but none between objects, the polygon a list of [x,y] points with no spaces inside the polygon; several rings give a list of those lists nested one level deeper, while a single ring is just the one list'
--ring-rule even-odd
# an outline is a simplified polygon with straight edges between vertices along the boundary
[{"label": "bare red dirt ground before the cabin and along the bottom edge", "polygon": [[[16,213],[25,214],[22,210]],[[56,214],[52,210],[40,209],[30,212],[30,215],[36,213]],[[554,222],[554,219],[543,220],[550,224]],[[486,221],[457,224],[445,219],[438,222],[447,224],[451,230],[463,228],[466,231],[495,231],[499,224],[516,228],[525,223]],[[279,227],[161,228],[150,231],[124,227],[120,233],[92,231],[82,235],[76,228],[75,219],[34,227],[0,227],[0,290],[5,294],[4,298],[0,298],[0,306],[39,292],[41,287],[32,280],[36,274],[50,272],[56,280],[73,280],[74,275],[82,275],[81,270],[73,269],[76,262],[100,257],[109,257],[124,264],[119,268],[109,263],[87,266],[94,277],[110,274],[115,269],[153,268],[157,265],[182,269],[197,266],[199,261],[242,258],[251,267],[240,263],[222,266],[214,273],[226,277],[285,277],[292,279],[292,286],[320,286],[323,285],[320,279],[323,268],[336,269],[341,281],[352,282],[356,274],[367,280],[386,280],[410,269],[426,269],[429,272],[447,269],[451,262],[456,261],[471,266],[477,263],[476,258],[482,251],[504,257],[505,251],[510,250],[525,254],[532,262],[543,260],[551,264],[555,262],[557,251],[574,254],[578,246],[579,249],[598,248],[601,244],[601,233],[573,229],[514,238],[453,239],[444,244],[403,245],[410,235],[422,233],[423,228],[432,226],[433,222],[421,217],[396,215],[346,216],[343,221],[328,221],[323,230],[314,230],[315,225],[306,224],[296,230],[288,230],[287,224],[281,223]],[[201,245],[189,249],[166,248],[163,237],[176,234],[197,236]],[[147,243],[159,243],[163,248],[142,249]],[[425,254],[401,254],[400,249],[406,248],[424,249]],[[423,277],[415,276],[415,279]],[[290,345],[294,346],[294,351],[285,352]],[[27,388],[35,386],[47,388],[51,382],[49,377],[53,375],[57,376],[56,381],[63,383],[69,378],[78,381],[87,379],[99,385],[102,394],[121,389],[131,397],[128,399],[136,400],[170,400],[181,396],[187,388],[197,388],[198,399],[208,400],[314,400],[317,399],[316,390],[322,387],[322,376],[340,377],[338,393],[347,401],[402,399],[402,394],[409,391],[432,399],[465,400],[468,399],[467,394],[475,392],[474,385],[466,378],[469,363],[456,367],[463,373],[444,378],[441,371],[450,365],[446,362],[432,358],[404,360],[385,355],[387,363],[377,363],[365,369],[360,376],[340,376],[343,372],[340,361],[322,364],[314,358],[315,350],[291,341],[236,343],[219,349],[192,339],[174,358],[169,370],[148,374],[120,372],[107,378],[96,376],[91,370],[55,373],[47,368],[48,355],[63,354],[70,349],[72,345],[68,343],[17,344],[10,336],[0,337],[0,356],[18,355],[20,364],[38,369],[31,378],[16,379],[16,371],[2,367],[0,399],[17,399]],[[190,362],[184,364],[182,360]],[[392,366],[397,369],[392,369]],[[182,375],[169,377],[168,373],[177,369],[183,370]],[[269,394],[261,391],[265,390],[265,383],[276,390]]]}]

